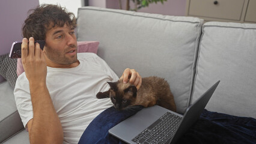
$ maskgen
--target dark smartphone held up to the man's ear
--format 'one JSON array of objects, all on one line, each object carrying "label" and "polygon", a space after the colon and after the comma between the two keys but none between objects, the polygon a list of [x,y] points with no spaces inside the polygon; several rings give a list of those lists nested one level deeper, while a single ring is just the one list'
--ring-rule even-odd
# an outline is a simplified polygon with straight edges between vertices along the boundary
[{"label": "dark smartphone held up to the man's ear", "polygon": [[[40,48],[43,50],[45,41],[39,40],[39,41],[35,41],[35,43],[39,43]],[[21,44],[22,44],[22,41],[14,41],[13,42],[13,44],[11,45],[11,51],[10,51],[10,55],[9,55],[10,58],[12,58],[12,59],[21,58]]]}]

